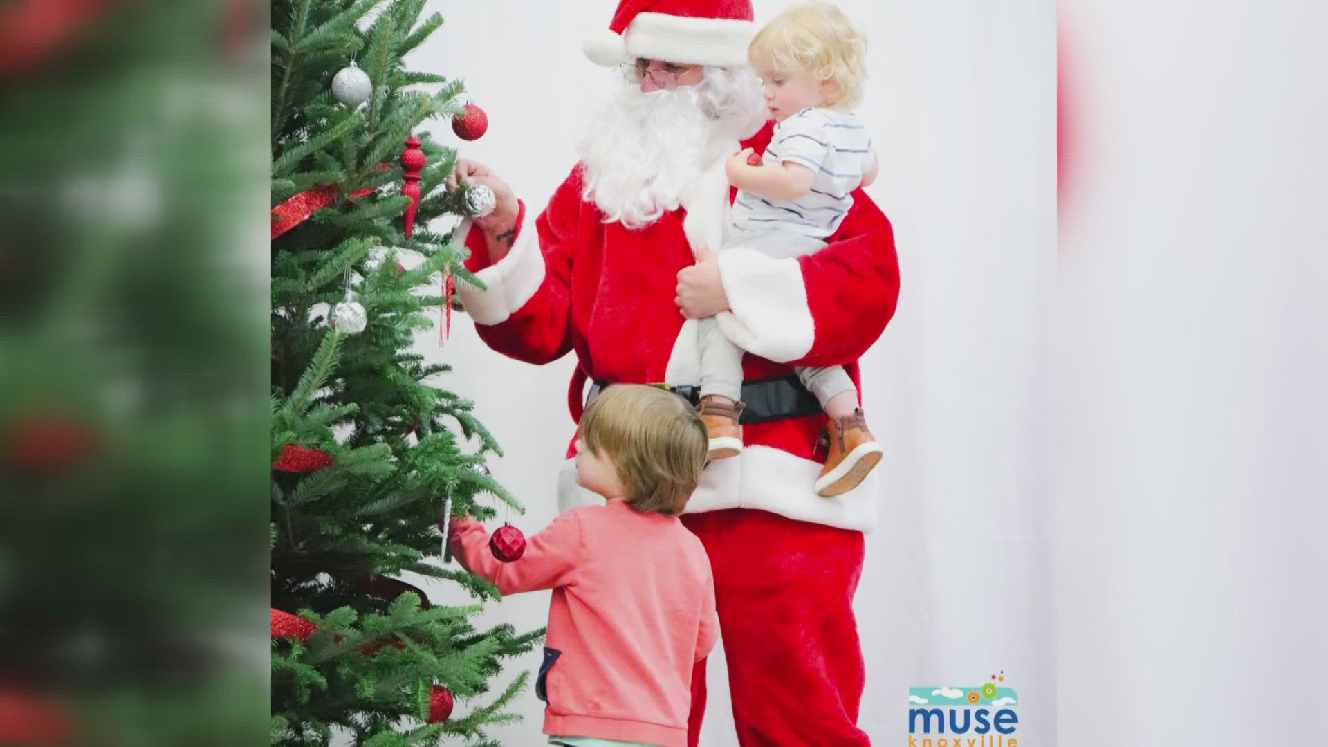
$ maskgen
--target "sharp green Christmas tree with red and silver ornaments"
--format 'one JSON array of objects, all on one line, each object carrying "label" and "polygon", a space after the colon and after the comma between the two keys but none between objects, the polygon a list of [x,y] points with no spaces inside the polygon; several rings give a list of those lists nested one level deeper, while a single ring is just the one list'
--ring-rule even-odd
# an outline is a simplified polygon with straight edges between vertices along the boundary
[{"label": "sharp green Christmas tree with red and silver ornaments", "polygon": [[[274,744],[494,744],[527,675],[490,682],[542,634],[477,630],[497,590],[438,557],[440,517],[519,505],[483,468],[501,452],[471,403],[436,385],[448,367],[410,352],[450,316],[450,278],[474,282],[429,229],[462,197],[454,150],[420,128],[467,110],[459,81],[405,69],[442,24],[424,5],[272,7]],[[433,606],[408,572],[475,605]]]}]

